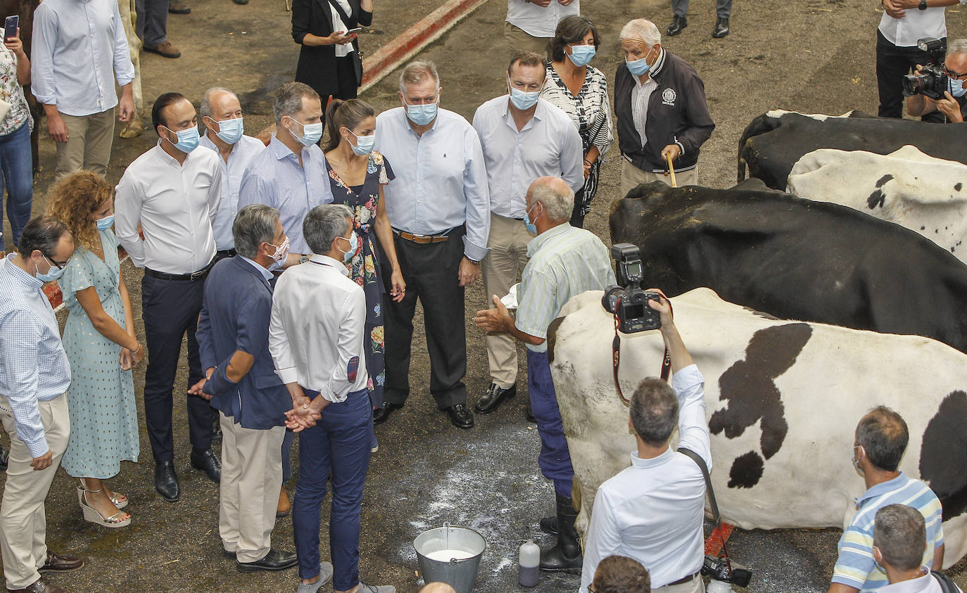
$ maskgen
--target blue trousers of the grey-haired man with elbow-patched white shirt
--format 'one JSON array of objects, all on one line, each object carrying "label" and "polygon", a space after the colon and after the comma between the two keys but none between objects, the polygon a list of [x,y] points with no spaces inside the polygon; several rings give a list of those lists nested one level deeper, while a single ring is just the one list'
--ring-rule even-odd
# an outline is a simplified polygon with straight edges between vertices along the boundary
[{"label": "blue trousers of the grey-haired man with elbow-patched white shirt", "polygon": [[[307,390],[306,395],[314,398],[317,394]],[[332,473],[329,548],[337,591],[351,589],[360,581],[360,515],[371,427],[369,393],[361,389],[323,409],[316,425],[299,436],[299,482],[292,502],[299,576],[311,579],[319,574],[320,507]]]}]

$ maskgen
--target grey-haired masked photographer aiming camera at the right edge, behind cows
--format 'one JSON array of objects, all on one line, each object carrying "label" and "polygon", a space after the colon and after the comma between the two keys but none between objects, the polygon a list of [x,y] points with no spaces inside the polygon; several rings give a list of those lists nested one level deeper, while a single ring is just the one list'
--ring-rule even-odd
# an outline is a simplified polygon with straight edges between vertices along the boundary
[{"label": "grey-haired masked photographer aiming camera at the right edge, behind cows", "polygon": [[[918,78],[918,82],[908,82],[913,78]],[[963,122],[967,115],[964,81],[967,81],[967,39],[959,39],[948,45],[943,62],[918,66],[917,73],[904,80],[904,95],[908,91],[917,91],[907,99],[907,114],[920,116],[939,112],[948,122]]]}]

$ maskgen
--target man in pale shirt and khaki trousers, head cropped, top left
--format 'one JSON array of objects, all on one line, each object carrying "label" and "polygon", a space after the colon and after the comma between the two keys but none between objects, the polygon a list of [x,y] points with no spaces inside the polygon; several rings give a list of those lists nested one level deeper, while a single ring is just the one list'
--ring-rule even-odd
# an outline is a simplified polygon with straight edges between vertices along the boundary
[{"label": "man in pale shirt and khaki trousers, head cropped, top left", "polygon": [[[115,0],[45,0],[34,13],[31,92],[57,146],[56,179],[104,176],[118,120],[134,115],[134,66]],[[121,100],[114,80],[121,87]]]}]

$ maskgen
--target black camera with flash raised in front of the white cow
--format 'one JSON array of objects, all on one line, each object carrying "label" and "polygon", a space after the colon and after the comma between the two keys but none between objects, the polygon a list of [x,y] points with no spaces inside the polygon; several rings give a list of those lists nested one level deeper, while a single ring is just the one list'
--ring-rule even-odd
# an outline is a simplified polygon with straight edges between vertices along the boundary
[{"label": "black camera with flash raised in front of the white cow", "polygon": [[622,333],[635,333],[658,329],[661,326],[659,312],[649,306],[649,300],[661,300],[658,293],[641,290],[645,274],[641,266],[641,251],[631,243],[611,246],[611,257],[618,262],[618,285],[604,289],[601,306],[618,317]]}]

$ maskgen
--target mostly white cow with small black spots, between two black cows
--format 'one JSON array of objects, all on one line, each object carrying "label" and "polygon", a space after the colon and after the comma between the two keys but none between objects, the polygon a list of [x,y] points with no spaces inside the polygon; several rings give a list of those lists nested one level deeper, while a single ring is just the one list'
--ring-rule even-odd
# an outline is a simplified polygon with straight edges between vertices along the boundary
[{"label": "mostly white cow with small black spots, between two black cows", "polygon": [[789,174],[789,193],[916,231],[967,263],[967,165],[904,146],[889,155],[820,149]]}]

